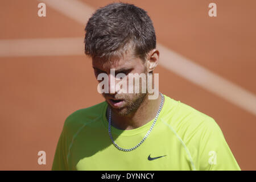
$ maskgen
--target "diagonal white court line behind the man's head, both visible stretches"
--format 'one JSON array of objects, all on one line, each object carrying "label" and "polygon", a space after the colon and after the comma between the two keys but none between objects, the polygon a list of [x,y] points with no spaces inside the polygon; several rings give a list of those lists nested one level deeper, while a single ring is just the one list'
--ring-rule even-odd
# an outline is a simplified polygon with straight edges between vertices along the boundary
[{"label": "diagonal white court line behind the man's head, both visible stretches", "polygon": [[[82,24],[86,24],[85,22],[95,11],[92,7],[77,0],[43,0],[43,2]],[[158,48],[162,50],[160,65],[256,115],[256,96],[253,93],[160,44]]]}]

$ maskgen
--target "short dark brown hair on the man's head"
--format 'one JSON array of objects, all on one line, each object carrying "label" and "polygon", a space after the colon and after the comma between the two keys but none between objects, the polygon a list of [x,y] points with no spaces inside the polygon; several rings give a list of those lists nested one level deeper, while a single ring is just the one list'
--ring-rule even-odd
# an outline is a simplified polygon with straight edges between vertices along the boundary
[{"label": "short dark brown hair on the man's head", "polygon": [[85,54],[106,60],[131,50],[146,60],[156,47],[154,26],[147,12],[128,3],[111,3],[96,10],[85,27]]}]

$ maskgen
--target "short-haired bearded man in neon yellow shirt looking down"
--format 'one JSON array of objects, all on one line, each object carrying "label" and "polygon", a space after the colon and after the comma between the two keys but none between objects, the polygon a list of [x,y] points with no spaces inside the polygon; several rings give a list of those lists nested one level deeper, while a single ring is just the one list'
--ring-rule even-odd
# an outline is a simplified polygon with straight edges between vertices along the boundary
[{"label": "short-haired bearded man in neon yellow shirt looking down", "polygon": [[106,101],[67,117],[53,170],[241,170],[213,118],[157,89],[143,93],[142,77],[139,93],[134,82],[116,87],[136,74],[157,87],[148,82],[159,51],[146,11],[112,3],[92,15],[85,31],[95,76],[108,80],[100,89]]}]

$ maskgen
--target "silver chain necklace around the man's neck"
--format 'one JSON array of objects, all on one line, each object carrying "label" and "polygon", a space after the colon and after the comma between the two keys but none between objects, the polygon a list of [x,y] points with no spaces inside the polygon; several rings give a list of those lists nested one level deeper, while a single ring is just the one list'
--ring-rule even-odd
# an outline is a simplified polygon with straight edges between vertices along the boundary
[{"label": "silver chain necklace around the man's neck", "polygon": [[161,103],[160,103],[160,107],[158,109],[158,113],[156,114],[156,117],[155,117],[155,120],[154,122],[152,123],[150,129],[147,131],[147,134],[145,135],[145,137],[141,140],[141,142],[139,142],[137,144],[137,146],[135,147],[132,147],[132,148],[122,148],[122,147],[119,147],[113,140],[112,138],[112,134],[111,134],[111,109],[109,109],[109,136],[112,140],[112,143],[114,144],[115,147],[118,148],[118,150],[122,150],[122,151],[125,151],[125,152],[129,152],[129,151],[132,151],[132,150],[135,150],[136,148],[138,148],[139,146],[141,146],[141,144],[144,142],[144,140],[146,140],[146,138],[148,137],[148,135],[150,134],[151,130],[153,129],[153,127],[155,126],[155,122],[156,120],[158,120],[158,116],[159,116],[159,113],[160,111],[162,110],[162,107],[163,107],[163,100],[164,100],[164,96],[162,93],[161,94],[161,97],[162,97],[162,100],[161,100]]}]

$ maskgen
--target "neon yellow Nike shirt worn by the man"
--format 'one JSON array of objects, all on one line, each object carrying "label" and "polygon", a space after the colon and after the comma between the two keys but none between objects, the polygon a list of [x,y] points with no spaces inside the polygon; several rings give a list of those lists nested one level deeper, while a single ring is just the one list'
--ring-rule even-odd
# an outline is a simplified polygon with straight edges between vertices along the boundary
[{"label": "neon yellow Nike shirt worn by the man", "polygon": [[[109,137],[106,102],[75,111],[65,120],[52,170],[241,170],[213,118],[164,97],[150,135],[129,152]],[[112,126],[115,143],[136,146],[153,121],[133,130]]]}]

